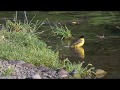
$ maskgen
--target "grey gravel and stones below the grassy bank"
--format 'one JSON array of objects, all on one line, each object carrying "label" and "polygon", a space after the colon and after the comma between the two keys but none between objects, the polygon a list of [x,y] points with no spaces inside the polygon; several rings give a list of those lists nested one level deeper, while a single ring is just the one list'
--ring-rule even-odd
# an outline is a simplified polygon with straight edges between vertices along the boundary
[{"label": "grey gravel and stones below the grassy bank", "polygon": [[[63,71],[63,75],[68,77],[67,71]],[[22,60],[0,59],[0,79],[61,79],[63,75],[57,70],[45,66],[36,67]]]}]

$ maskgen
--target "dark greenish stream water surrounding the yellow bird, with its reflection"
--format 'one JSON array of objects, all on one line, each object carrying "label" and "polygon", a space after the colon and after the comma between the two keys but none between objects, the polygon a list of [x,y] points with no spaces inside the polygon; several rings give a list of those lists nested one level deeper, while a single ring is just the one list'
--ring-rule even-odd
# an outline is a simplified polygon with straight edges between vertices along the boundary
[{"label": "dark greenish stream water surrounding the yellow bird, with its reflection", "polygon": [[[1,13],[3,12],[0,12],[0,22],[4,21],[2,17],[12,18],[11,12],[9,12],[10,16],[5,16],[5,14],[3,14],[3,16],[1,15]],[[39,15],[38,12],[36,13],[37,15]],[[82,13],[86,15],[87,12]],[[104,13],[107,14],[103,15]],[[82,22],[78,25],[68,24],[67,27],[72,31],[74,37],[73,40],[61,41],[59,37],[49,37],[46,33],[43,33],[40,36],[49,46],[52,46],[53,50],[59,51],[59,56],[61,60],[69,58],[71,62],[84,61],[85,65],[91,63],[95,68],[103,69],[107,72],[107,74],[103,78],[120,78],[120,29],[116,27],[120,26],[120,18],[118,17],[119,13],[104,13],[96,13],[93,15],[90,13],[87,16],[85,22]],[[33,16],[33,14],[34,13],[29,12],[29,15],[31,15],[31,17]],[[75,14],[68,13],[68,15],[69,14],[71,15],[71,17],[73,16],[74,19],[78,19],[79,17],[81,17],[79,16],[80,14],[78,12],[76,12]],[[40,18],[37,17],[37,19],[41,19],[44,14],[42,14],[41,16],[40,15]],[[51,15],[55,15],[55,13],[51,14],[49,12],[47,16],[51,17]],[[60,15],[63,16],[67,14],[60,13]],[[66,21],[67,20],[68,19],[66,19]],[[43,26],[41,27],[40,31],[46,30],[48,28],[48,26]],[[103,34],[106,38],[102,40],[96,36]],[[69,45],[79,39],[79,36],[81,35],[85,36],[84,46],[82,48],[76,49],[69,48]]]}]

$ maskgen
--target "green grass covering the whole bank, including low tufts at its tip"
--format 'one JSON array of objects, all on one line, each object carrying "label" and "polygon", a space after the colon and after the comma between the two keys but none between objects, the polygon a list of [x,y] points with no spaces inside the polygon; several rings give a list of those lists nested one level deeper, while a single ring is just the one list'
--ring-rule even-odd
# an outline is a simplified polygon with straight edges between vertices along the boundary
[{"label": "green grass covering the whole bank, including low tufts at its tip", "polygon": [[[54,69],[65,67],[68,72],[75,69],[79,72],[79,78],[88,76],[93,72],[94,68],[92,66],[89,68],[90,64],[82,67],[83,63],[81,62],[77,64],[71,63],[68,59],[60,60],[59,52],[52,51],[51,47],[47,46],[36,32],[42,26],[42,23],[38,21],[32,23],[33,19],[28,22],[27,17],[25,19],[26,22],[23,23],[18,21],[16,12],[14,21],[6,21],[4,30],[0,32],[5,37],[0,43],[0,58],[5,60],[23,60]],[[61,26],[61,28],[63,27]],[[65,28],[68,30],[67,27]]]}]

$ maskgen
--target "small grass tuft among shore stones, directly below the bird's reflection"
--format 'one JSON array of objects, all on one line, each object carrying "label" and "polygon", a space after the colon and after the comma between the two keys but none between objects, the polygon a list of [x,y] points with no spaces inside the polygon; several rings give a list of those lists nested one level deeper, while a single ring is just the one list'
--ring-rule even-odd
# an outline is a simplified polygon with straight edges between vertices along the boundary
[{"label": "small grass tuft among shore stones, directly below the bird's reflection", "polygon": [[93,67],[93,65],[90,63],[84,68],[84,62],[71,63],[68,59],[65,59],[62,63],[64,65],[64,68],[66,68],[69,72],[71,72],[72,70],[77,70],[78,73],[77,77],[75,78],[85,78],[86,76],[93,77],[93,75],[95,75],[95,67]]}]

